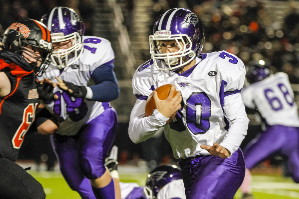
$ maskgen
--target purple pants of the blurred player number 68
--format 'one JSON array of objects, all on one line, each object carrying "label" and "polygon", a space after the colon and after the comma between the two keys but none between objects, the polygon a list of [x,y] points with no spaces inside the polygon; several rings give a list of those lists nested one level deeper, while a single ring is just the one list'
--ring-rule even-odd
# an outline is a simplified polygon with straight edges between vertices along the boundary
[{"label": "purple pants of the blurred player number 68", "polygon": [[246,168],[252,169],[277,152],[288,157],[289,171],[293,180],[299,183],[299,132],[296,127],[267,126],[266,131],[251,140],[244,149]]}]

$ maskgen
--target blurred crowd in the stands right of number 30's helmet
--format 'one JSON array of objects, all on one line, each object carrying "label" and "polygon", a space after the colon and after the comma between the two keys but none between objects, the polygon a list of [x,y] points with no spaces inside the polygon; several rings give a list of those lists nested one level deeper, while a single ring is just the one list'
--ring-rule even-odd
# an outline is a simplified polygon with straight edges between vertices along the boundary
[{"label": "blurred crowd in the stands right of number 30's helmet", "polygon": [[[275,73],[283,71],[291,83],[299,83],[299,10],[298,2],[285,1],[281,8],[283,23],[270,19],[265,1],[197,1],[167,0],[154,5],[156,17],[169,8],[185,5],[204,24],[203,53],[226,50],[245,65],[264,60]],[[236,7],[230,5],[234,2]],[[268,9],[268,10],[267,10]]]}]

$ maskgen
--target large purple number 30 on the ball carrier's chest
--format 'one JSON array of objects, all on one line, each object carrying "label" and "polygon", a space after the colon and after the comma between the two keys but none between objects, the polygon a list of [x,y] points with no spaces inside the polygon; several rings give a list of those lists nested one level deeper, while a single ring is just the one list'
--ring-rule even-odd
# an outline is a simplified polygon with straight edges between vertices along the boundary
[{"label": "large purple number 30 on the ball carrier's chest", "polygon": [[[183,101],[182,101],[183,103]],[[169,127],[176,131],[185,131],[182,120],[183,104],[175,116],[177,121],[171,121]],[[210,128],[211,100],[205,92],[193,92],[186,101],[186,123],[193,134],[205,134]]]}]

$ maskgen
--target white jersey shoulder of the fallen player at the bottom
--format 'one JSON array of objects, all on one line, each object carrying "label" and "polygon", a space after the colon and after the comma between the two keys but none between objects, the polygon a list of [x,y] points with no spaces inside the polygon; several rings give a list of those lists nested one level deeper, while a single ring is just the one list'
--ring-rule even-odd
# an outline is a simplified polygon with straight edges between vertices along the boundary
[{"label": "white jersey shoulder of the fallen player at the bottom", "polygon": [[183,180],[172,180],[158,192],[157,199],[186,199]]}]

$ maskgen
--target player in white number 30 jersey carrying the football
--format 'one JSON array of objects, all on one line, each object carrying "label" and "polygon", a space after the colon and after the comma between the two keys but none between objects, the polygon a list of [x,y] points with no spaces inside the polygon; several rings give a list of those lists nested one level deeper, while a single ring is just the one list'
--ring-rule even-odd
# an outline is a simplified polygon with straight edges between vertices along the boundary
[{"label": "player in white number 30 jersey carrying the football", "polygon": [[[131,140],[139,143],[164,126],[180,159],[186,198],[232,199],[245,175],[239,149],[249,122],[239,93],[244,64],[225,51],[201,53],[203,27],[189,10],[166,11],[149,40],[152,59],[132,80],[137,101],[130,116]],[[169,96],[160,100],[154,93],[156,109],[145,117],[146,99],[165,84],[172,84]]]}]

